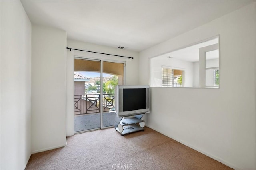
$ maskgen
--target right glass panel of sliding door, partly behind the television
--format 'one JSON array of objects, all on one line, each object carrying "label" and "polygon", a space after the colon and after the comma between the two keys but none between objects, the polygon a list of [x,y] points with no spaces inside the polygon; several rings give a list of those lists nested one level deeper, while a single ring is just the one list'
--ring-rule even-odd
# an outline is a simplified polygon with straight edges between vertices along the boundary
[{"label": "right glass panel of sliding door, partly behind the television", "polygon": [[116,85],[124,85],[124,64],[103,61],[102,77],[102,126],[115,124],[114,92]]}]

